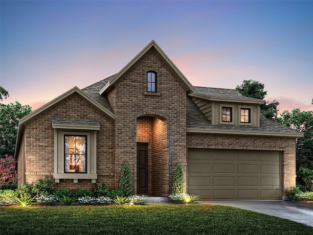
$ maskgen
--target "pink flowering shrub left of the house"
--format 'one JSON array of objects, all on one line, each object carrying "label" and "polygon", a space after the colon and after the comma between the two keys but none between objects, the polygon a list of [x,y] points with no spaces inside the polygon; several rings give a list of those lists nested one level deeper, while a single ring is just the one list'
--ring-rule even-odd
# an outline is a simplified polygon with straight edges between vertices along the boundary
[{"label": "pink flowering shrub left of the house", "polygon": [[3,184],[16,184],[18,172],[16,170],[17,161],[7,154],[0,159],[0,188]]}]

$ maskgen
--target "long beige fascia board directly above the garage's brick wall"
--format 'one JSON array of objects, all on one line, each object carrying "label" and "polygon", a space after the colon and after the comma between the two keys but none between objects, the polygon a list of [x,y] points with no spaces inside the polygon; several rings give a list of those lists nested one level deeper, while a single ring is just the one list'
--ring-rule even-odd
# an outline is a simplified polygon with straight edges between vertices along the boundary
[{"label": "long beige fascia board directly above the garage's brick wall", "polygon": [[214,130],[214,129],[196,129],[187,128],[190,134],[221,134],[221,135],[246,135],[246,136],[269,136],[269,137],[287,137],[299,138],[303,137],[303,133],[281,133],[281,132],[265,132],[265,131],[233,131],[233,130]]}]

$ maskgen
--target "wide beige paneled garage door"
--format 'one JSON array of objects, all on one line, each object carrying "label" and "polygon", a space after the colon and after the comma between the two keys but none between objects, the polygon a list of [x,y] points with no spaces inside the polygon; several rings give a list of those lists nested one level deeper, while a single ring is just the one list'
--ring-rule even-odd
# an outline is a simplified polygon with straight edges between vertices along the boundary
[{"label": "wide beige paneled garage door", "polygon": [[188,193],[207,200],[282,200],[281,152],[188,149]]}]

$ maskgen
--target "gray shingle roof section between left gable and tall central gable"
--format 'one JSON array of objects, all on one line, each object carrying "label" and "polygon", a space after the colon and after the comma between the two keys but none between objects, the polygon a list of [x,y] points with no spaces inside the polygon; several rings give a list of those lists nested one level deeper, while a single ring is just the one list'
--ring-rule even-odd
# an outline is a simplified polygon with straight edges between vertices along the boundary
[{"label": "gray shingle roof section between left gable and tall central gable", "polygon": [[107,96],[100,95],[99,92],[108,82],[110,82],[110,80],[114,76],[115,76],[115,74],[82,89],[83,92],[88,94],[91,98],[93,98],[95,101],[97,101],[99,104],[101,104],[103,107],[105,107],[106,109],[108,109],[112,113],[113,113],[113,109],[111,107],[111,104],[110,104]]}]

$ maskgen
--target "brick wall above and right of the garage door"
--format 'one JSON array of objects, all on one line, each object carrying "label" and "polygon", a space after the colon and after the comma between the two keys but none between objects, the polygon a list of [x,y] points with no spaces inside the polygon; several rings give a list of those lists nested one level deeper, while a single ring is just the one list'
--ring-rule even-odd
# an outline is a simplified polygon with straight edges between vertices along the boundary
[{"label": "brick wall above and right of the garage door", "polygon": [[187,134],[187,148],[282,151],[283,196],[295,185],[295,139]]}]

